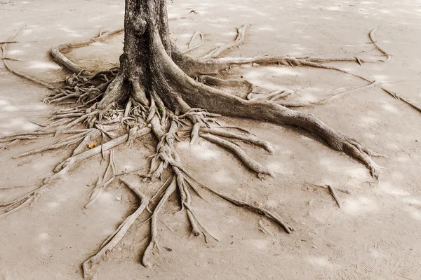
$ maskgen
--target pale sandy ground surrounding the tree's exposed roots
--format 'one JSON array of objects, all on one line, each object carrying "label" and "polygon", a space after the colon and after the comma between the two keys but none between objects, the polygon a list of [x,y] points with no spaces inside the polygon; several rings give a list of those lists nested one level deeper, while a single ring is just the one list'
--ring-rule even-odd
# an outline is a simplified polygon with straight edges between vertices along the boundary
[{"label": "pale sandy ground surrounding the tree's exposed roots", "polygon": [[[338,4],[340,3],[340,4]],[[235,36],[234,27],[252,24],[243,55],[347,55],[378,58],[368,42],[377,27],[377,40],[393,55],[387,64],[337,64],[363,76],[385,82],[421,104],[420,1],[332,0],[213,0],[169,2],[173,38],[179,46],[199,30],[206,43],[199,56]],[[48,52],[53,45],[98,34],[100,27],[122,26],[123,1],[1,1],[0,41],[27,30],[22,43],[9,47],[15,69],[49,82],[65,77]],[[122,37],[74,50],[69,56],[88,69],[115,64]],[[230,55],[240,55],[232,50]],[[9,73],[0,65],[0,134],[34,130],[32,120],[46,123],[53,106],[41,102],[48,90]],[[243,75],[262,90],[288,87],[297,99],[313,100],[331,90],[363,85],[345,74],[292,67],[243,67]],[[140,265],[147,244],[147,223],[136,223],[116,251],[98,269],[97,279],[421,279],[421,123],[420,113],[375,87],[353,92],[330,104],[307,109],[336,130],[359,139],[385,158],[379,181],[363,165],[332,151],[309,134],[249,120],[224,119],[243,125],[271,141],[274,155],[248,148],[250,155],[276,172],[276,179],[260,181],[226,151],[211,144],[189,147],[180,143],[182,160],[204,183],[225,193],[277,211],[295,232],[286,235],[266,218],[238,209],[208,193],[209,204],[194,197],[198,216],[220,241],[189,235],[185,216],[173,215],[171,201],[161,217],[159,239],[163,249],[154,255],[154,268]],[[11,157],[52,141],[18,145],[0,155],[0,201],[33,188],[8,190],[34,183],[48,174],[70,151],[45,153],[20,160]],[[144,139],[144,141],[149,141]],[[119,148],[119,169],[145,165],[151,152],[141,141]],[[0,220],[0,279],[81,279],[81,263],[98,250],[109,234],[137,205],[135,197],[114,183],[90,209],[88,193],[107,162],[83,162],[58,186],[48,189],[32,208]],[[129,178],[138,182],[138,177]],[[342,209],[323,188],[326,184],[349,190],[338,193]],[[145,192],[156,188],[145,184]],[[122,197],[121,201],[116,197]],[[143,217],[143,220],[145,217]]]}]

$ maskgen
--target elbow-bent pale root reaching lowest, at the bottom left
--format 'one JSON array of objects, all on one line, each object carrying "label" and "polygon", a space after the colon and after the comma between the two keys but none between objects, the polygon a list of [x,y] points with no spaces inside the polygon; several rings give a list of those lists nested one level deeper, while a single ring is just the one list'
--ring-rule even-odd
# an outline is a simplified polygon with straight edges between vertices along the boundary
[{"label": "elbow-bent pale root reaching lowest, at the bottom left", "polygon": [[123,179],[120,179],[120,181],[123,182],[129,189],[133,191],[133,193],[135,193],[135,195],[139,197],[140,207],[138,207],[138,209],[136,209],[136,211],[133,214],[128,216],[126,220],[124,220],[123,223],[121,223],[119,228],[110,236],[111,238],[107,239],[107,243],[101,247],[98,253],[96,253],[95,255],[93,255],[93,257],[83,262],[83,279],[85,280],[91,279],[91,277],[93,276],[93,266],[98,265],[100,262],[105,260],[107,253],[112,251],[115,248],[115,246],[119,244],[121,239],[123,239],[123,237],[126,235],[133,223],[138,219],[138,217],[143,213],[143,211],[149,204],[149,200],[142,193],[138,186],[132,186],[131,183],[128,183]]}]

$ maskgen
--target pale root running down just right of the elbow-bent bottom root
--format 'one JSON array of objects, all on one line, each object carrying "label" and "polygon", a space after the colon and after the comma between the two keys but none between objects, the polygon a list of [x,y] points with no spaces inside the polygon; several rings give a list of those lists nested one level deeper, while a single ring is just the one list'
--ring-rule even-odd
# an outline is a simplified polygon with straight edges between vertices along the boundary
[{"label": "pale root running down just right of the elbow-bent bottom root", "polygon": [[175,179],[175,176],[173,177],[173,180],[171,181],[170,186],[166,189],[165,193],[163,194],[161,200],[159,200],[158,205],[156,205],[156,208],[154,209],[154,212],[152,214],[151,219],[151,240],[149,241],[149,245],[147,246],[145,253],[143,253],[142,257],[142,264],[145,267],[151,267],[150,262],[150,255],[152,253],[152,250],[158,246],[158,229],[156,228],[156,222],[158,219],[158,214],[163,209],[163,206],[168,201],[168,198],[175,192],[177,189],[177,181]]}]

